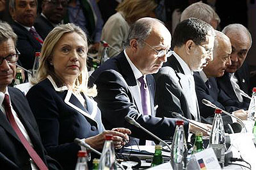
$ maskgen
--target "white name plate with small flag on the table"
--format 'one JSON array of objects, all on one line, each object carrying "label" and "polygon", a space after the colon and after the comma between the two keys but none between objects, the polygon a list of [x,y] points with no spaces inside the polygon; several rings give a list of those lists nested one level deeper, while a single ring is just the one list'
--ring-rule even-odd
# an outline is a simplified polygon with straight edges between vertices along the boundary
[{"label": "white name plate with small flag on the table", "polygon": [[191,155],[188,169],[221,169],[218,159],[212,148],[207,148],[201,152]]}]

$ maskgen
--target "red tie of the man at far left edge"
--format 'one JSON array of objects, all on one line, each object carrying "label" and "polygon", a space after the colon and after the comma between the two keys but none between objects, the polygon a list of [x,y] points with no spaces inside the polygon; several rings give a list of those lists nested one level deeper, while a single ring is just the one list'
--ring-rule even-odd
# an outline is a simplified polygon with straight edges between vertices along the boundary
[{"label": "red tie of the man at far left edge", "polygon": [[15,122],[15,119],[12,114],[11,105],[10,105],[10,99],[8,94],[5,94],[4,96],[4,109],[6,112],[6,117],[8,118],[10,124],[13,127],[13,130],[16,132],[17,136],[19,137],[22,145],[26,148],[29,156],[33,161],[35,162],[36,166],[41,169],[48,169],[43,160],[39,157],[39,155],[35,152],[35,150],[32,148],[32,146],[29,144],[28,140],[25,138],[25,136],[20,131],[18,125]]}]

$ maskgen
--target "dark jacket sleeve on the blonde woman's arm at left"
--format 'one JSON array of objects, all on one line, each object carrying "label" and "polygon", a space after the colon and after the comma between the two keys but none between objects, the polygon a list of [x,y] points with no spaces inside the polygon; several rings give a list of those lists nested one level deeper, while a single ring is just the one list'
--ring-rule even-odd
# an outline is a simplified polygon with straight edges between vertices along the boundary
[{"label": "dark jacket sleeve on the blonde woman's arm at left", "polygon": [[58,104],[54,100],[54,92],[51,89],[35,86],[29,90],[26,97],[49,155],[60,162],[67,160],[67,157],[76,162],[76,154],[81,150],[80,146],[73,141],[59,145],[60,114]]}]

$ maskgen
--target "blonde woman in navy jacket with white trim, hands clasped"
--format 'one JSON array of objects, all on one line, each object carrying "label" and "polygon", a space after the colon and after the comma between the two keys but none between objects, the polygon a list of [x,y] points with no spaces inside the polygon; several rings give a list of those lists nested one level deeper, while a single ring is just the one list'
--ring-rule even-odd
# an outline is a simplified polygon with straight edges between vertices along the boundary
[{"label": "blonde woman in navy jacket with white trim, hands clasped", "polygon": [[128,129],[105,131],[100,110],[93,101],[96,89],[88,89],[86,69],[87,38],[74,24],[54,28],[44,41],[40,66],[27,98],[45,149],[64,169],[74,169],[84,139],[100,150],[105,134],[114,135],[116,148],[129,139]]}]

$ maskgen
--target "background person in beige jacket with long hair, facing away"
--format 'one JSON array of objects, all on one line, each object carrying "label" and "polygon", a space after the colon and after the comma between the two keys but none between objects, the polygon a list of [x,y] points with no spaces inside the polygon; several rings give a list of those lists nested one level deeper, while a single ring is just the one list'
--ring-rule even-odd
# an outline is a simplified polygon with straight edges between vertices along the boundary
[{"label": "background person in beige jacket with long hair, facing away", "polygon": [[[115,57],[124,50],[124,42],[127,39],[130,25],[143,17],[156,17],[157,4],[154,0],[124,0],[116,8],[102,29],[101,40],[113,46],[109,48],[109,57]],[[99,59],[103,46],[99,48]]]}]

